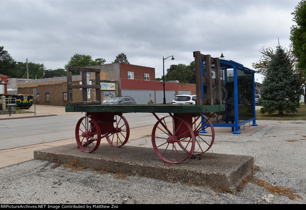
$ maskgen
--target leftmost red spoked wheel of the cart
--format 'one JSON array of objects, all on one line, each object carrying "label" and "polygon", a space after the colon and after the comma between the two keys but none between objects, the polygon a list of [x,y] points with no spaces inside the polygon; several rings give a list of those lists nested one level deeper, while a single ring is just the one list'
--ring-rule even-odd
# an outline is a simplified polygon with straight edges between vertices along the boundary
[{"label": "leftmost red spoked wheel of the cart", "polygon": [[90,117],[84,116],[76,123],[76,143],[85,153],[95,151],[101,141],[101,131],[97,121]]}]

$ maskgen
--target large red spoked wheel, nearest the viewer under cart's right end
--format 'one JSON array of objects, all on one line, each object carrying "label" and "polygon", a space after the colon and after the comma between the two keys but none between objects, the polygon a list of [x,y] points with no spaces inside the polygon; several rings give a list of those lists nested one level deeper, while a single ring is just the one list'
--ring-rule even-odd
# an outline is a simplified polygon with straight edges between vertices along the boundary
[{"label": "large red spoked wheel, nearest the viewer under cart's right end", "polygon": [[[172,118],[171,125],[167,125],[165,118]],[[156,132],[162,131],[162,134]],[[155,123],[152,130],[152,145],[155,153],[167,163],[180,163],[186,160],[195,146],[195,136],[191,126],[176,116],[166,116]],[[185,151],[180,146],[185,148]]]}]

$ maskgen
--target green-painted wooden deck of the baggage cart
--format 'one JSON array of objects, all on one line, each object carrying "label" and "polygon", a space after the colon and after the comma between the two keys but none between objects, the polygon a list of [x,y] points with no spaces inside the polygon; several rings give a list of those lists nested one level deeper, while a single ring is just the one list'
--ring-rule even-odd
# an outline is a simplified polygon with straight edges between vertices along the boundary
[{"label": "green-painted wooden deck of the baggage cart", "polygon": [[145,112],[145,113],[210,113],[225,110],[225,105],[83,105],[66,106],[66,112]]}]

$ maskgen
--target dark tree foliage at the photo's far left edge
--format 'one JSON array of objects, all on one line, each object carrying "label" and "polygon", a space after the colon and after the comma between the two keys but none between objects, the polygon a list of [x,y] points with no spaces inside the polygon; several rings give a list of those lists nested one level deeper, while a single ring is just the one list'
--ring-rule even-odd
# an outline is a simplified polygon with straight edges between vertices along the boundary
[{"label": "dark tree foliage at the photo's far left edge", "polygon": [[11,57],[7,50],[4,50],[4,46],[0,46],[0,74],[16,77],[14,72],[16,66],[16,61]]}]

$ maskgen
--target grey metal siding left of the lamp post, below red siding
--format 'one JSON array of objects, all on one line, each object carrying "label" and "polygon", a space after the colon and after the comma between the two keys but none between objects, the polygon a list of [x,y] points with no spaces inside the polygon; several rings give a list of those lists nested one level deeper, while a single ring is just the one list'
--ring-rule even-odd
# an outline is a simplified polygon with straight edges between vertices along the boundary
[{"label": "grey metal siding left of the lamp post, below red siding", "polygon": [[154,90],[121,90],[121,96],[131,96],[137,104],[147,104],[150,101],[150,93],[151,100],[155,102]]}]

